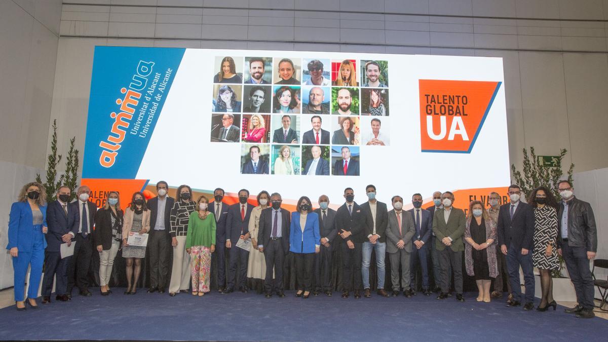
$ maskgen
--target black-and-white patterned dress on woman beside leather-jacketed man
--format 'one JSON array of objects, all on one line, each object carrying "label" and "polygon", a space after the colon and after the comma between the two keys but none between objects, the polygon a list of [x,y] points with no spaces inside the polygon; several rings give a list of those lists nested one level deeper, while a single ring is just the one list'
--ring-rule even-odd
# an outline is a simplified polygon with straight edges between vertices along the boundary
[{"label": "black-and-white patterned dress on woman beside leather-jacketed man", "polygon": [[[534,251],[532,262],[540,270],[559,268],[556,240],[558,239],[558,213],[551,206],[534,209]],[[550,257],[545,256],[547,245],[553,246]]]}]

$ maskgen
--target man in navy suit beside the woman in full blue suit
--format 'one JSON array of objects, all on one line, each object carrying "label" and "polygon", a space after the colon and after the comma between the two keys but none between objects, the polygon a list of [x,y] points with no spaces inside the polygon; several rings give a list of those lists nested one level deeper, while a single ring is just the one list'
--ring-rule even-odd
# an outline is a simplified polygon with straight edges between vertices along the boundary
[{"label": "man in navy suit beside the woman in full blue suit", "polygon": [[[50,303],[50,293],[53,289],[53,278],[55,282],[55,300],[69,301],[66,295],[67,287],[67,265],[72,257],[61,259],[60,246],[67,243],[72,244],[72,237],[78,231],[78,210],[75,206],[68,206],[71,190],[67,186],[61,186],[57,190],[57,201],[49,203],[46,208],[46,222],[49,231],[45,234],[46,251],[44,258],[44,279],[42,282],[42,302]],[[72,232],[72,234],[70,234]]]}]

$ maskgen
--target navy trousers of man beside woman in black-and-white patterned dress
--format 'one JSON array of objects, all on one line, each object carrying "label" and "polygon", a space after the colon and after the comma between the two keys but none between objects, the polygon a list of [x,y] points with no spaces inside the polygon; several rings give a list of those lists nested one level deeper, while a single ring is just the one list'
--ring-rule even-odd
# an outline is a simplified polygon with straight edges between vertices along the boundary
[{"label": "navy trousers of man beside woman in black-and-white patterned dress", "polygon": [[[534,266],[532,265],[532,250],[522,256],[522,249],[509,246],[506,253],[506,265],[509,269],[509,281],[513,290],[513,299],[516,301],[525,300],[527,303],[534,302]],[[519,282],[519,267],[523,271],[523,284],[525,284],[526,294],[522,298],[522,286]]]}]

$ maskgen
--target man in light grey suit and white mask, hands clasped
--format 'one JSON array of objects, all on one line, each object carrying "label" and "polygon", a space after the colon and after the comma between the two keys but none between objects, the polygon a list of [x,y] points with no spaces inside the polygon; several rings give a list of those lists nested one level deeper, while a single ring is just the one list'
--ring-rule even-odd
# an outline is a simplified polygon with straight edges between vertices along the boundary
[{"label": "man in light grey suit and white mask, hands clasped", "polygon": [[393,297],[399,295],[399,263],[401,263],[401,284],[403,294],[407,296],[410,290],[410,254],[412,253],[412,237],[416,229],[414,220],[409,212],[402,211],[403,198],[393,196],[393,210],[389,211],[389,226],[386,229],[386,251],[390,260],[390,279],[393,283]]}]

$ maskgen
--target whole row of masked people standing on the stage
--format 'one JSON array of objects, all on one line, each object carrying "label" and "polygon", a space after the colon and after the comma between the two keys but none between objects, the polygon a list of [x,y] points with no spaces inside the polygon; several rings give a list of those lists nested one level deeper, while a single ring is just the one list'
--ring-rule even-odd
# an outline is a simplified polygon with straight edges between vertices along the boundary
[{"label": "whole row of masked people standing on the stage", "polygon": [[[258,293],[266,298],[285,297],[283,265],[288,253],[295,261],[295,296],[309,298],[321,292],[333,295],[331,265],[333,251],[342,259],[342,298],[354,290],[354,298],[369,298],[370,260],[375,253],[377,294],[383,297],[416,294],[415,275],[420,270],[422,293],[437,299],[463,298],[463,256],[465,270],[474,277],[478,302],[502,298],[503,273],[508,274],[508,306],[534,309],[534,274],[541,274],[542,298],[536,307],[553,307],[551,271],[559,268],[561,255],[575,286],[578,304],[566,309],[579,318],[593,314],[593,280],[589,260],[595,257],[597,233],[589,203],[574,196],[572,183],[559,181],[558,202],[547,187],[534,189],[522,201],[520,187],[508,188],[509,203],[500,205],[500,195],[489,195],[485,203],[471,201],[465,214],[454,208],[452,192],[435,192],[433,205],[423,209],[423,197],[414,194],[413,208],[404,211],[404,198],[395,195],[389,206],[376,199],[376,187],[365,188],[368,201],[355,203],[354,190],[344,190],[344,203],[330,208],[327,195],[318,199],[319,208],[306,196],[300,197],[294,212],[282,208],[282,197],[266,191],[257,195],[257,206],[249,203],[249,191],[238,192],[238,203],[227,204],[224,190],[215,189],[213,198],[196,200],[192,189],[179,186],[176,198],[168,196],[168,184],[156,184],[157,197],[146,200],[134,193],[123,211],[120,194],[111,191],[103,208],[89,201],[90,189],[80,186],[77,200],[69,202],[71,189],[61,186],[57,200],[46,203],[44,187],[29,183],[13,203],[9,221],[7,249],[15,270],[17,310],[26,304],[36,308],[42,267],[42,302],[50,303],[55,280],[57,301],[69,301],[77,286],[82,296],[91,296],[88,271],[92,253],[99,253],[100,294],[112,293],[109,280],[117,252],[122,248],[126,260],[125,295],[137,291],[141,260],[149,253],[148,293],[168,290],[171,296],[190,292],[203,296],[210,291],[212,256],[219,265],[219,291],[226,295],[236,289],[247,292],[247,278],[257,279]],[[130,234],[149,234],[147,246],[131,246]],[[74,246],[72,256],[61,257],[62,244]],[[173,267],[168,274],[170,251]],[[464,253],[463,253],[464,252]],[[385,288],[385,256],[390,260],[391,289]],[[226,255],[229,268],[226,272]],[[432,258],[435,282],[430,288],[427,258]],[[31,267],[27,301],[24,283]],[[523,271],[525,293],[520,287]],[[237,277],[238,273],[238,277]],[[451,278],[454,276],[454,284]],[[490,293],[491,281],[494,291]],[[238,284],[237,284],[238,280]],[[263,291],[262,289],[263,285]],[[190,290],[192,288],[192,290]]]}]

